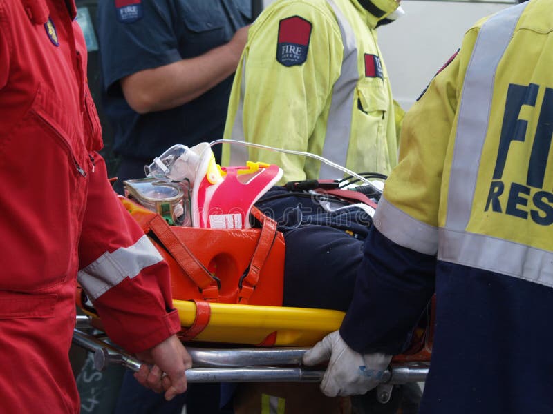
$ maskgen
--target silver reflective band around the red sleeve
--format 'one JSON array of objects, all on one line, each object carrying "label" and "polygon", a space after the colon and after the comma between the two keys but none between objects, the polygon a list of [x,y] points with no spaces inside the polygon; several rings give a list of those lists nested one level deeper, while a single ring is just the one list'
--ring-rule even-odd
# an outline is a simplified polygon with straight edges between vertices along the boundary
[{"label": "silver reflective band around the red sleeve", "polygon": [[158,250],[144,235],[133,246],[104,253],[95,262],[79,270],[77,279],[88,297],[95,300],[124,278],[132,279],[142,269],[162,260]]}]

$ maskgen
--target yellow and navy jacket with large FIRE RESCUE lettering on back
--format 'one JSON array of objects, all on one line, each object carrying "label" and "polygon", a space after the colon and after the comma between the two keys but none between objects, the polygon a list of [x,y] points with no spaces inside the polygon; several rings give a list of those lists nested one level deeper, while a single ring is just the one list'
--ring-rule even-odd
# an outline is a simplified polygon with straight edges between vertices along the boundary
[{"label": "yellow and navy jacket with large FIRE RESCUE lettering on back", "polygon": [[435,292],[420,413],[553,406],[552,16],[532,0],[478,22],[402,126],[340,332],[400,352]]}]

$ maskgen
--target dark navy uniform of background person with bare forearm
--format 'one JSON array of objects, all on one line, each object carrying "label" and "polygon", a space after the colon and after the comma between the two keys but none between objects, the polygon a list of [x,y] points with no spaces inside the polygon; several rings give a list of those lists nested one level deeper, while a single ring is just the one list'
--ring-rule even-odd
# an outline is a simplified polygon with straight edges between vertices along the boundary
[{"label": "dark navy uniform of background person with bare forearm", "polygon": [[185,105],[144,115],[126,103],[119,81],[140,70],[203,55],[227,43],[251,20],[250,0],[100,0],[102,94],[114,127],[115,152],[151,159],[174,144],[221,139],[232,76]]}]

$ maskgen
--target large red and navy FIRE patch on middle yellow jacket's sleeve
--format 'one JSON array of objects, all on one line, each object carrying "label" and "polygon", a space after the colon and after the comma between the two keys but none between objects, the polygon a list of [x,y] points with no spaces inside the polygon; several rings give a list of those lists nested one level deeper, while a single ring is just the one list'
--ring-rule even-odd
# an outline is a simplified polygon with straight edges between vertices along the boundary
[{"label": "large red and navy FIRE patch on middle yellow jacket's sleeve", "polygon": [[284,66],[301,65],[307,59],[312,24],[299,16],[288,17],[279,23],[277,61]]}]

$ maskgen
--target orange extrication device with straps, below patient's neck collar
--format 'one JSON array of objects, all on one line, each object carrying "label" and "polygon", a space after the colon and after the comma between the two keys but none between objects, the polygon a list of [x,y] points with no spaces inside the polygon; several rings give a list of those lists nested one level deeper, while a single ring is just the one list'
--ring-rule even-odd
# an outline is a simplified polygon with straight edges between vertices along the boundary
[{"label": "orange extrication device with straps, below patient's neck collar", "polygon": [[[182,339],[205,329],[211,303],[282,305],[284,238],[256,208],[251,213],[261,228],[193,228],[169,226],[151,210],[120,199],[168,262],[173,299],[196,302],[196,317]],[[266,339],[263,345],[274,344],[274,335]]]}]

